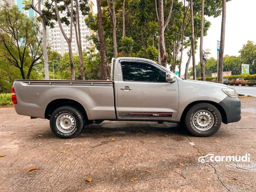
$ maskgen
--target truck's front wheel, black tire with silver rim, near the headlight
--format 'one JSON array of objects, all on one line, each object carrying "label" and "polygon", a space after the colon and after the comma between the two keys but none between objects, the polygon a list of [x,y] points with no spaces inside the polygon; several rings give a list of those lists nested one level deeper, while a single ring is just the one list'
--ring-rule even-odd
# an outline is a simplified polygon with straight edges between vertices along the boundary
[{"label": "truck's front wheel, black tire with silver rim, near the headlight", "polygon": [[[221,127],[221,113],[212,104],[199,103],[188,110],[184,123],[192,135],[197,137],[208,137],[216,133]],[[201,125],[206,127],[201,127]]]}]

